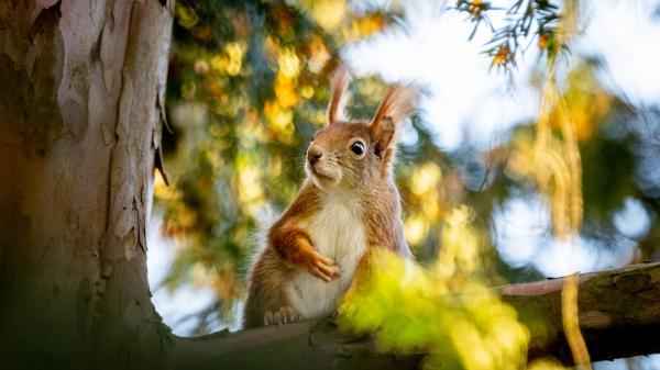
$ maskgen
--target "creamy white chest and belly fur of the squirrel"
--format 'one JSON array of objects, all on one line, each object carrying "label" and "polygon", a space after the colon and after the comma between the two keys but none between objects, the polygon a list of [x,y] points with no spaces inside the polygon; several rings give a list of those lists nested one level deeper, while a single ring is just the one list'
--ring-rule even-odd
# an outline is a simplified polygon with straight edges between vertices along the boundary
[{"label": "creamy white chest and belly fur of the squirrel", "polygon": [[300,271],[286,287],[289,302],[302,317],[329,314],[353,281],[355,267],[366,250],[364,223],[355,200],[341,195],[327,197],[321,211],[300,225],[315,248],[334,260],[341,277],[326,282],[308,271]]}]

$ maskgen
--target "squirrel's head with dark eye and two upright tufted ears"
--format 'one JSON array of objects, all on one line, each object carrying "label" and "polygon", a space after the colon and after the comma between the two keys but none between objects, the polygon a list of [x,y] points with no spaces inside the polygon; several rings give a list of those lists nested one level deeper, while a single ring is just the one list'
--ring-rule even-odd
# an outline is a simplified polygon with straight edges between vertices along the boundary
[{"label": "squirrel's head with dark eye and two upright tufted ears", "polygon": [[371,121],[350,120],[344,112],[349,72],[339,67],[331,78],[328,126],[307,149],[305,169],[321,189],[370,187],[389,181],[397,131],[415,110],[417,89],[393,86]]}]

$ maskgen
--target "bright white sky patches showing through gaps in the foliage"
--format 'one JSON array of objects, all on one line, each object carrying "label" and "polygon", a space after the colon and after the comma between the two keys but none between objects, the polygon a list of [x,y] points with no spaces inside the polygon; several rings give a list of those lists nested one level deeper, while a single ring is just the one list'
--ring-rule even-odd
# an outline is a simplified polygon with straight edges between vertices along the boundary
[{"label": "bright white sky patches showing through gaps in the foliage", "polygon": [[[494,1],[506,5],[510,1]],[[660,21],[652,14],[656,0],[585,1],[582,16],[584,34],[572,46],[574,55],[601,55],[606,63],[602,76],[612,92],[624,92],[635,104],[660,101]],[[429,96],[421,101],[421,116],[435,133],[436,143],[446,150],[462,141],[487,148],[506,135],[508,128],[534,120],[539,108],[537,90],[528,77],[538,66],[530,47],[510,76],[490,69],[480,53],[488,40],[477,32],[469,42],[473,25],[463,14],[444,12],[439,1],[405,3],[405,30],[388,31],[343,51],[353,74],[360,78],[380,75],[386,81],[415,81]],[[497,24],[497,16],[493,18]],[[485,30],[484,30],[485,31]],[[632,258],[632,246],[612,254],[597,253],[597,245],[579,239],[573,244],[544,239],[548,210],[539,200],[512,200],[496,212],[496,239],[501,255],[512,266],[531,265],[548,277],[619,267]],[[161,220],[150,225],[148,279],[154,304],[166,324],[177,334],[187,334],[193,321],[182,317],[198,312],[212,301],[208,290],[190,287],[169,294],[158,289],[174,259],[174,246],[158,235]],[[639,232],[648,225],[648,214],[630,201],[615,218],[617,227]],[[648,226],[647,226],[648,227]],[[628,233],[628,234],[630,234]],[[531,242],[530,242],[531,240]],[[660,369],[660,359],[641,360],[640,369]],[[601,370],[626,369],[623,362],[603,362]]]}]

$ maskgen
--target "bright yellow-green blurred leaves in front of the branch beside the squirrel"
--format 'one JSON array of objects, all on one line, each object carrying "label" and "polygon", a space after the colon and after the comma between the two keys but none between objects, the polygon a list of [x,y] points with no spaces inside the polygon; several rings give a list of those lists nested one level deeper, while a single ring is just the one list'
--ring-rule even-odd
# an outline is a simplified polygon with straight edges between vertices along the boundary
[{"label": "bright yellow-green blurred leaves in front of the branch beside the squirrel", "polygon": [[374,253],[373,277],[349,290],[340,325],[377,330],[385,349],[428,352],[425,369],[521,369],[529,333],[484,283],[483,231],[471,225],[473,214],[468,206],[446,213],[442,249],[428,269]]}]

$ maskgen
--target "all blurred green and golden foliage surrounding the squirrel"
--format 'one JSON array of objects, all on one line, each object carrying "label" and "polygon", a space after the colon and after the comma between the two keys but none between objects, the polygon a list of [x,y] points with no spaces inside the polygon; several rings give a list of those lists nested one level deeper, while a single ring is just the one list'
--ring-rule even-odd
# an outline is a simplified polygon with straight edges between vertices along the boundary
[{"label": "all blurred green and golden foliage surrounding the squirrel", "polygon": [[[576,1],[564,5],[575,14]],[[396,181],[406,238],[425,267],[377,255],[383,273],[367,292],[349,293],[341,319],[358,330],[381,328],[388,348],[432,348],[429,367],[439,358],[466,369],[521,367],[527,332],[487,287],[541,276],[499,259],[494,215],[510,200],[541,197],[552,215],[548,239],[581,236],[608,249],[638,248],[636,261],[658,258],[660,109],[634,106],[605,87],[597,57],[558,63],[576,14],[562,15],[549,1],[512,1],[509,23],[497,31],[490,2],[455,8],[493,30],[493,65],[514,66],[519,45],[537,37],[544,69],[530,79],[542,106],[535,122],[520,122],[490,148],[465,142],[443,153],[427,123],[415,117],[405,127]],[[341,0],[177,2],[167,97],[174,133],[164,137],[175,182],[158,179],[155,195],[178,248],[165,285],[217,294],[196,316],[198,333],[231,322],[258,234],[295,197],[305,149],[324,124],[340,49],[400,27],[399,11]],[[369,117],[385,91],[377,77],[354,81],[352,115]],[[634,235],[616,221],[629,204],[649,220]]]}]

